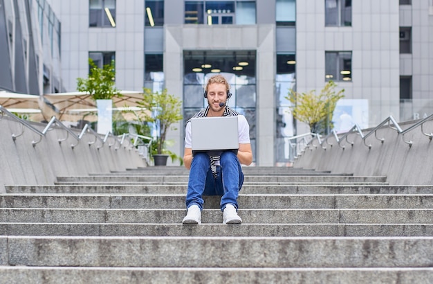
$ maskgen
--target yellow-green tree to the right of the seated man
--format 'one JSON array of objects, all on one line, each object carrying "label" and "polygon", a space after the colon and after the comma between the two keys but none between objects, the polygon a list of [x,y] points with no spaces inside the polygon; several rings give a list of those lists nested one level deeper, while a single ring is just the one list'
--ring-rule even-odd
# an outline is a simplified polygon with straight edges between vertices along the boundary
[{"label": "yellow-green tree to the right of the seated man", "polygon": [[284,98],[292,103],[290,112],[297,121],[306,123],[313,133],[327,134],[329,129],[333,128],[335,106],[338,100],[344,97],[344,89],[335,92],[336,86],[333,81],[327,82],[319,96],[315,94],[315,90],[298,93],[290,89],[288,96]]}]

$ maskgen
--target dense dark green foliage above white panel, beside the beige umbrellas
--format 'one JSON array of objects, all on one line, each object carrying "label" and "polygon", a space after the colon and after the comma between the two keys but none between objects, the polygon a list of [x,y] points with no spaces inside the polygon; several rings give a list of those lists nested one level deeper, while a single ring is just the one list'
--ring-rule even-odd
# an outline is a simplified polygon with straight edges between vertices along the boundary
[{"label": "dense dark green foliage above white panel, beside the beige umbrellas", "polygon": [[77,91],[89,93],[93,100],[107,100],[115,96],[122,96],[115,87],[116,69],[114,60],[100,68],[89,58],[89,65],[91,67],[89,76],[86,79],[77,78]]}]

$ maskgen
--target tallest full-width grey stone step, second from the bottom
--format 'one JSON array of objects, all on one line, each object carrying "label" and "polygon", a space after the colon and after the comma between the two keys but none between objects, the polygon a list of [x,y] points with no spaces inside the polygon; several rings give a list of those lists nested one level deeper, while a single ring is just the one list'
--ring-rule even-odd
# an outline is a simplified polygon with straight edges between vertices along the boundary
[{"label": "tallest full-width grey stone step, second from the bottom", "polygon": [[433,267],[432,256],[433,237],[0,236],[11,266]]}]

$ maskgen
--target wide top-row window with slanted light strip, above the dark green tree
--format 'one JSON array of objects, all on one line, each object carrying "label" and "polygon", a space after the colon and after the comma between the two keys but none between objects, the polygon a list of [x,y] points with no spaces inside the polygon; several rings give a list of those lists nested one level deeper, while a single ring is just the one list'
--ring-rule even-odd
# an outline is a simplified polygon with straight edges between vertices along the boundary
[{"label": "wide top-row window with slanted light strip, above the dark green tree", "polygon": [[116,0],[89,0],[89,26],[116,27]]}]

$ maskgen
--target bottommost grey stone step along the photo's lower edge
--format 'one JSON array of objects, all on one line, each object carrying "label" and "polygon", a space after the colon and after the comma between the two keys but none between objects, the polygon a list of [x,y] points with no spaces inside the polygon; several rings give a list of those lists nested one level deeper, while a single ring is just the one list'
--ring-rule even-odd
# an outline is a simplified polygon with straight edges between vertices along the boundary
[{"label": "bottommost grey stone step along the photo's lower edge", "polygon": [[[13,267],[3,283],[433,283],[433,268]],[[326,280],[326,281],[325,281]]]}]

